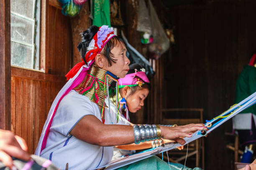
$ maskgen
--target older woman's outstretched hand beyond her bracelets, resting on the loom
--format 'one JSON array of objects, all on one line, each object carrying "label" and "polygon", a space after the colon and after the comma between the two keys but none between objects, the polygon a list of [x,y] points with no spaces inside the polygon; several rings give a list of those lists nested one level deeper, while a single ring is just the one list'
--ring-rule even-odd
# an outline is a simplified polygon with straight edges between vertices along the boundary
[{"label": "older woman's outstretched hand beyond her bracelets, resting on the loom", "polygon": [[160,126],[161,136],[164,139],[175,140],[181,145],[185,144],[185,140],[180,137],[191,137],[197,130],[207,130],[204,124],[189,124],[184,126]]}]

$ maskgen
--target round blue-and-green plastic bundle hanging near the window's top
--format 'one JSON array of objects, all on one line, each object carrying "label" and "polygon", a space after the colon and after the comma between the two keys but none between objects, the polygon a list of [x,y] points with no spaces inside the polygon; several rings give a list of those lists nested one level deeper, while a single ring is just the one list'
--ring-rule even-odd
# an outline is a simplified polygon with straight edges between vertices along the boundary
[{"label": "round blue-and-green plastic bundle hanging near the window's top", "polygon": [[81,9],[80,5],[75,4],[73,0],[68,0],[66,4],[63,4],[61,12],[63,15],[74,17],[79,13],[80,9]]}]

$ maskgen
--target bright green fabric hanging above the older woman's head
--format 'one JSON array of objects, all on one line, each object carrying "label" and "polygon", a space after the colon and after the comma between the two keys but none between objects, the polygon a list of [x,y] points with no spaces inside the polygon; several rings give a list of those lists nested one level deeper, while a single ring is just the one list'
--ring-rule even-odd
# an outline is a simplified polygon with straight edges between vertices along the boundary
[{"label": "bright green fabric hanging above the older woman's head", "polygon": [[101,27],[110,25],[110,5],[109,0],[92,0],[93,25]]}]

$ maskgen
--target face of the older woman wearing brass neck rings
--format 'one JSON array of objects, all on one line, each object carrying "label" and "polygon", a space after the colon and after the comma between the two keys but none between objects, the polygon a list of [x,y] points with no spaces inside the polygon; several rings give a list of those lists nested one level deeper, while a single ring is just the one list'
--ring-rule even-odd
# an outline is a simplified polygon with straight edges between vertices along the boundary
[{"label": "face of the older woman wearing brass neck rings", "polygon": [[129,70],[130,60],[126,57],[126,47],[120,42],[110,51],[113,54],[112,65],[107,68],[114,75],[123,78]]}]

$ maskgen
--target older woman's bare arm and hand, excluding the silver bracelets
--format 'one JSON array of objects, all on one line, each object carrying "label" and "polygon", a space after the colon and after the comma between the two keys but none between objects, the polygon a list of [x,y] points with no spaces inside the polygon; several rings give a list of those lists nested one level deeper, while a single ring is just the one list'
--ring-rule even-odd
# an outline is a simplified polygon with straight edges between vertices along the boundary
[{"label": "older woman's bare arm and hand, excluding the silver bracelets", "polygon": [[[185,126],[161,128],[161,137],[175,140],[180,144],[185,141],[181,136],[191,137],[197,130],[206,129],[203,124],[190,124]],[[105,125],[94,115],[84,116],[70,131],[74,137],[84,142],[100,146],[116,146],[134,143],[133,126]]]}]

